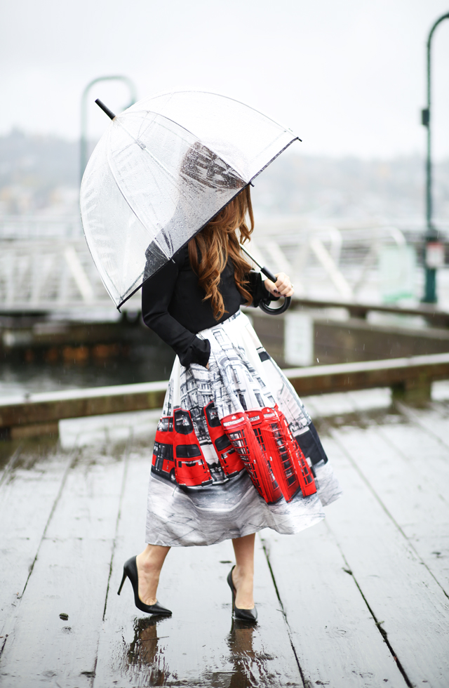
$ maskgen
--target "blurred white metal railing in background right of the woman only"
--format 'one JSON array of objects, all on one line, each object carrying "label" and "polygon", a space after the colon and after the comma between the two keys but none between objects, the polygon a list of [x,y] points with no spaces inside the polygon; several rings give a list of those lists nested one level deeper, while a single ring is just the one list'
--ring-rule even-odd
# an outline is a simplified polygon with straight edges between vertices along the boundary
[{"label": "blurred white metal railing in background right of the woman only", "polygon": [[[408,237],[417,246],[421,233],[408,232]],[[284,270],[290,274],[297,296],[374,303],[384,298],[385,276],[379,268],[385,249],[398,249],[398,263],[409,259],[410,251],[415,251],[410,249],[405,232],[394,225],[372,223],[363,226],[354,222],[349,227],[338,227],[312,224],[300,217],[257,223],[252,244],[252,251],[257,248],[262,263],[272,267],[274,272]],[[398,275],[400,272],[398,265]],[[403,274],[406,272],[402,270]],[[441,270],[438,274],[439,291],[449,297],[449,270]],[[413,289],[408,291],[419,298],[422,270],[416,264],[413,282]]]}]

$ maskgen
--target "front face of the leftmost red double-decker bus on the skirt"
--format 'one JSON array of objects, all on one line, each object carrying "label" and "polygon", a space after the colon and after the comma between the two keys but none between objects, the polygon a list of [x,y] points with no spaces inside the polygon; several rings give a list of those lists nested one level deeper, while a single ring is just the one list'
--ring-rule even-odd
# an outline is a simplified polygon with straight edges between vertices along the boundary
[{"label": "front face of the leftmost red double-decker bus on the skirt", "polygon": [[199,487],[212,482],[209,467],[195,435],[190,411],[173,411],[173,454],[175,477],[179,485]]}]

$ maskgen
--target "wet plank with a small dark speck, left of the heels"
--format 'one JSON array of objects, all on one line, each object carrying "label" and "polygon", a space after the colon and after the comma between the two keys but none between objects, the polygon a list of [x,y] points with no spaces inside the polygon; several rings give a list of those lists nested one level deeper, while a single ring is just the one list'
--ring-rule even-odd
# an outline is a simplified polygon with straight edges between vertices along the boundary
[{"label": "wet plank with a small dark speck, left of the heels", "polygon": [[[15,616],[2,688],[91,684],[123,482],[123,447],[86,450],[69,470]],[[60,618],[61,613],[68,619]],[[32,623],[30,623],[32,620]]]}]

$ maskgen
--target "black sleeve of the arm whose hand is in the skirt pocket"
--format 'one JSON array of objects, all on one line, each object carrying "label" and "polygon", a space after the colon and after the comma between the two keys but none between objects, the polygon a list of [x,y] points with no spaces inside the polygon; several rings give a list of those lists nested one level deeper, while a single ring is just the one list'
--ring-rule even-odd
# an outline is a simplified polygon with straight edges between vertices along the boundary
[{"label": "black sleeve of the arm whose hand is in the skirt pocket", "polygon": [[[176,254],[175,254],[176,258]],[[145,324],[179,356],[182,366],[191,363],[205,366],[210,356],[210,343],[187,330],[168,312],[175,289],[179,265],[169,260],[142,286],[142,318]]]}]

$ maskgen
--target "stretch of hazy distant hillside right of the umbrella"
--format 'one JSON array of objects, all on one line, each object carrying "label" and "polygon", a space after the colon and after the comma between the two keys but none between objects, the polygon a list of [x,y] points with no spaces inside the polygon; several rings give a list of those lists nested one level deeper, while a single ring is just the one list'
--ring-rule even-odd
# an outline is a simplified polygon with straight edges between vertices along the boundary
[{"label": "stretch of hazy distant hillside right of the umbrella", "polygon": [[[366,161],[285,154],[255,180],[267,215],[410,218],[424,213],[420,157]],[[449,160],[434,170],[435,216],[449,218]]]}]

